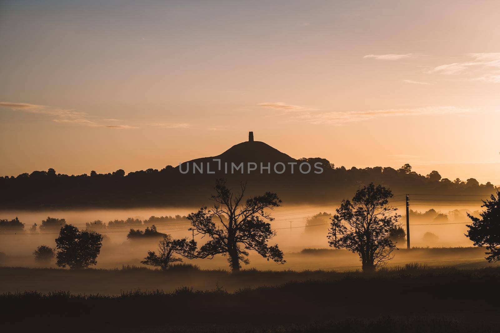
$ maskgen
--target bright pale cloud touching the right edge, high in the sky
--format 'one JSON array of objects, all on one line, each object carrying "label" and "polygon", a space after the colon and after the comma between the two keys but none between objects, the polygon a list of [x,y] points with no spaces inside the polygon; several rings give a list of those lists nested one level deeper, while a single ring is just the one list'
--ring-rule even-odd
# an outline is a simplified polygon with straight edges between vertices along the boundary
[{"label": "bright pale cloud touching the right edge, high in the sky", "polygon": [[479,80],[484,82],[494,82],[498,83],[497,75],[491,74],[497,73],[498,68],[500,68],[500,53],[467,53],[470,59],[463,62],[453,62],[444,65],[436,66],[427,73],[437,73],[443,75],[458,75],[458,74],[471,74],[477,75],[479,73],[481,76],[472,78],[471,80]]}]

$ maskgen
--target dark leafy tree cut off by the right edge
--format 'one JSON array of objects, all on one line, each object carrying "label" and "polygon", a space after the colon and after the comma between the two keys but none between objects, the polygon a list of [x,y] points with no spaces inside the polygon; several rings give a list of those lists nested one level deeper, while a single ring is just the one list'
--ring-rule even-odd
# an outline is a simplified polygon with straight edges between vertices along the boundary
[{"label": "dark leafy tree cut off by the right edge", "polygon": [[469,230],[465,234],[475,246],[486,247],[485,254],[488,262],[500,260],[500,191],[496,191],[496,198],[491,194],[490,200],[483,200],[482,206],[486,209],[479,217],[467,216],[472,220],[472,224],[467,225]]}]

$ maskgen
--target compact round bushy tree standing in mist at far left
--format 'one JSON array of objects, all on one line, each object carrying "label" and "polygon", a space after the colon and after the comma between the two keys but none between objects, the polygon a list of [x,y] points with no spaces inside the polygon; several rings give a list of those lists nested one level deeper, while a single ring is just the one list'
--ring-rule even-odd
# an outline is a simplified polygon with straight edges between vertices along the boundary
[{"label": "compact round bushy tree standing in mist at far left", "polygon": [[55,239],[57,266],[83,269],[97,264],[97,256],[102,247],[102,236],[95,232],[78,231],[72,225],[65,225]]}]

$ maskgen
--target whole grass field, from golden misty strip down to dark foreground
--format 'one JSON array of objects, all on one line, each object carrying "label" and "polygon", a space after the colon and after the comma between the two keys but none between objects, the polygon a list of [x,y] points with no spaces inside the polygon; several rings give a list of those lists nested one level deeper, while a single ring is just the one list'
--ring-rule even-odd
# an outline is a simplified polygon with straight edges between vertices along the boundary
[{"label": "whole grass field, from golden misty strip down to dark foreground", "polygon": [[500,332],[500,267],[484,249],[401,249],[372,274],[343,250],[286,258],[253,257],[231,274],[224,258],[161,272],[138,260],[71,271],[4,257],[2,332]]}]

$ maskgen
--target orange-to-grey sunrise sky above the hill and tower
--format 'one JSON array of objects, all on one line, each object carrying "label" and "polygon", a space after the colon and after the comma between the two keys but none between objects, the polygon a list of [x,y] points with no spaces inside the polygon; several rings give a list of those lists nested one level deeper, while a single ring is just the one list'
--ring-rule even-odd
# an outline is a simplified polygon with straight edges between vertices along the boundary
[{"label": "orange-to-grey sunrise sky above the hill and tower", "polygon": [[500,2],[0,0],[0,175],[161,169],[248,131],[500,184]]}]

